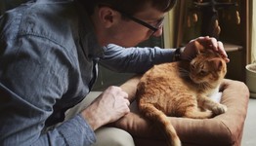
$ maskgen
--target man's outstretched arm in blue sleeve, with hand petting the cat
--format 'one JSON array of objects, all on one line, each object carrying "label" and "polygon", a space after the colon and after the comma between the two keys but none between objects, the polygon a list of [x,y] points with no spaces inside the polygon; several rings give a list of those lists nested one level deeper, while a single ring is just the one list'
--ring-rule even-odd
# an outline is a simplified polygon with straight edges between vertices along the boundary
[{"label": "man's outstretched arm in blue sleeve, with hand petting the cat", "polygon": [[[192,59],[200,48],[212,49],[222,55],[227,62],[230,61],[222,42],[208,36],[190,41],[179,50],[181,51],[179,57],[180,59]],[[100,59],[101,64],[117,72],[133,73],[143,73],[154,64],[173,61],[177,53],[176,49],[122,48],[113,44],[107,45],[104,50],[104,57]]]}]

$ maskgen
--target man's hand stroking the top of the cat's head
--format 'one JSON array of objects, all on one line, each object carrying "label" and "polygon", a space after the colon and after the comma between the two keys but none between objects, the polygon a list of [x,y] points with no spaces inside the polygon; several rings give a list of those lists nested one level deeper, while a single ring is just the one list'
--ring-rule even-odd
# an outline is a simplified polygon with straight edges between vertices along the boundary
[{"label": "man's hand stroking the top of the cat's head", "polygon": [[190,41],[190,43],[184,48],[181,58],[191,60],[198,53],[198,51],[202,49],[211,49],[222,55],[226,62],[230,61],[226,51],[224,50],[223,43],[208,36],[198,37]]}]

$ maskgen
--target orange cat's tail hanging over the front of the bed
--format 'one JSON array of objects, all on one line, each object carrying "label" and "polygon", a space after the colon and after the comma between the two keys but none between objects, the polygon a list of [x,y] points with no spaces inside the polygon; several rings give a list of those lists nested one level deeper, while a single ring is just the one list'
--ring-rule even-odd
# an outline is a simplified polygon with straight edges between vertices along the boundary
[{"label": "orange cat's tail hanging over the front of the bed", "polygon": [[139,105],[140,111],[150,120],[157,123],[167,138],[168,146],[181,146],[181,141],[176,133],[175,128],[173,128],[168,117],[160,110],[158,110],[153,104],[145,103]]}]

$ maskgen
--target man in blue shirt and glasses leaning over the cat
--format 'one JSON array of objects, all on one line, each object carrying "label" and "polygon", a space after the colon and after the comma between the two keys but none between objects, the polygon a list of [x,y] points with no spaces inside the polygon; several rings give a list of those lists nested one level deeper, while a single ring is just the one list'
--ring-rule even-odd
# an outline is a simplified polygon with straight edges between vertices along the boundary
[{"label": "man in blue shirt and glasses leaning over the cat", "polygon": [[37,0],[5,12],[0,18],[0,145],[93,145],[95,131],[129,113],[130,104],[125,91],[111,86],[64,121],[65,112],[91,91],[98,63],[143,73],[174,57],[192,58],[195,42],[229,61],[223,44],[207,36],[183,50],[135,47],[162,34],[164,15],[175,1]]}]

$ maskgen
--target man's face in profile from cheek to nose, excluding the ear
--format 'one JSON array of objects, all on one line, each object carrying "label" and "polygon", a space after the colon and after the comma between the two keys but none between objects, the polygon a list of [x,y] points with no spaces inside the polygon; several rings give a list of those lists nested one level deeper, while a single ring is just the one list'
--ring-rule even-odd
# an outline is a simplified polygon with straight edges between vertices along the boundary
[{"label": "man's face in profile from cheek to nose, excluding the ear", "polygon": [[[123,14],[120,13],[120,15]],[[124,17],[126,16],[124,15]],[[116,26],[116,44],[131,47],[148,40],[150,36],[161,36],[163,18],[164,13],[146,9],[132,18],[121,19],[119,25]],[[147,24],[143,24],[141,21]]]}]

